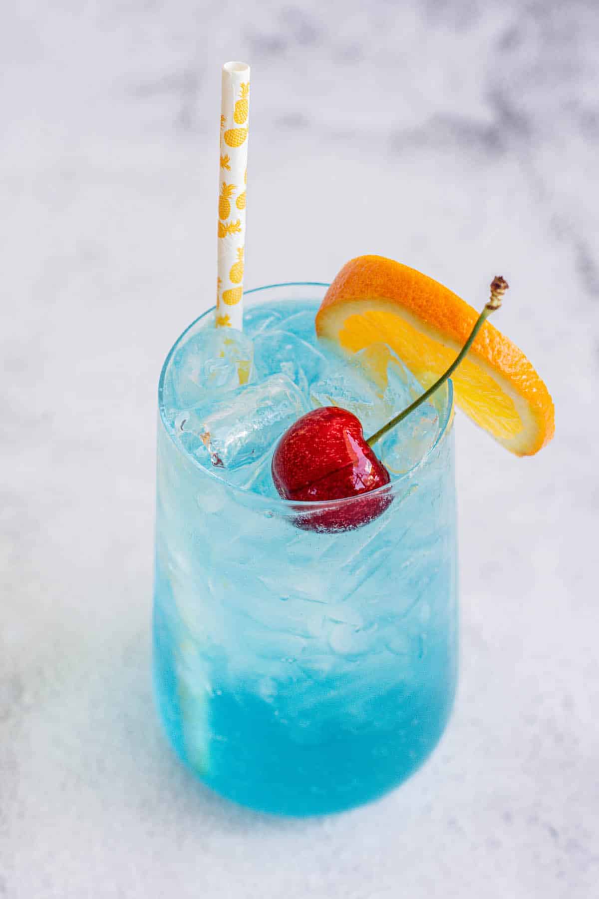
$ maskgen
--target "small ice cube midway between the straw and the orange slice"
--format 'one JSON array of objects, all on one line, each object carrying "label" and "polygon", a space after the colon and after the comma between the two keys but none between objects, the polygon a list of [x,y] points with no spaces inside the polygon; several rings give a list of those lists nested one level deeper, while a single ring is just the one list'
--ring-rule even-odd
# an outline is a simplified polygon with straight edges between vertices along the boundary
[{"label": "small ice cube midway between the straw and the orange slice", "polygon": [[[300,313],[301,315],[301,313]],[[259,378],[280,371],[306,396],[326,367],[322,352],[288,331],[269,331],[254,341],[254,365]]]}]

